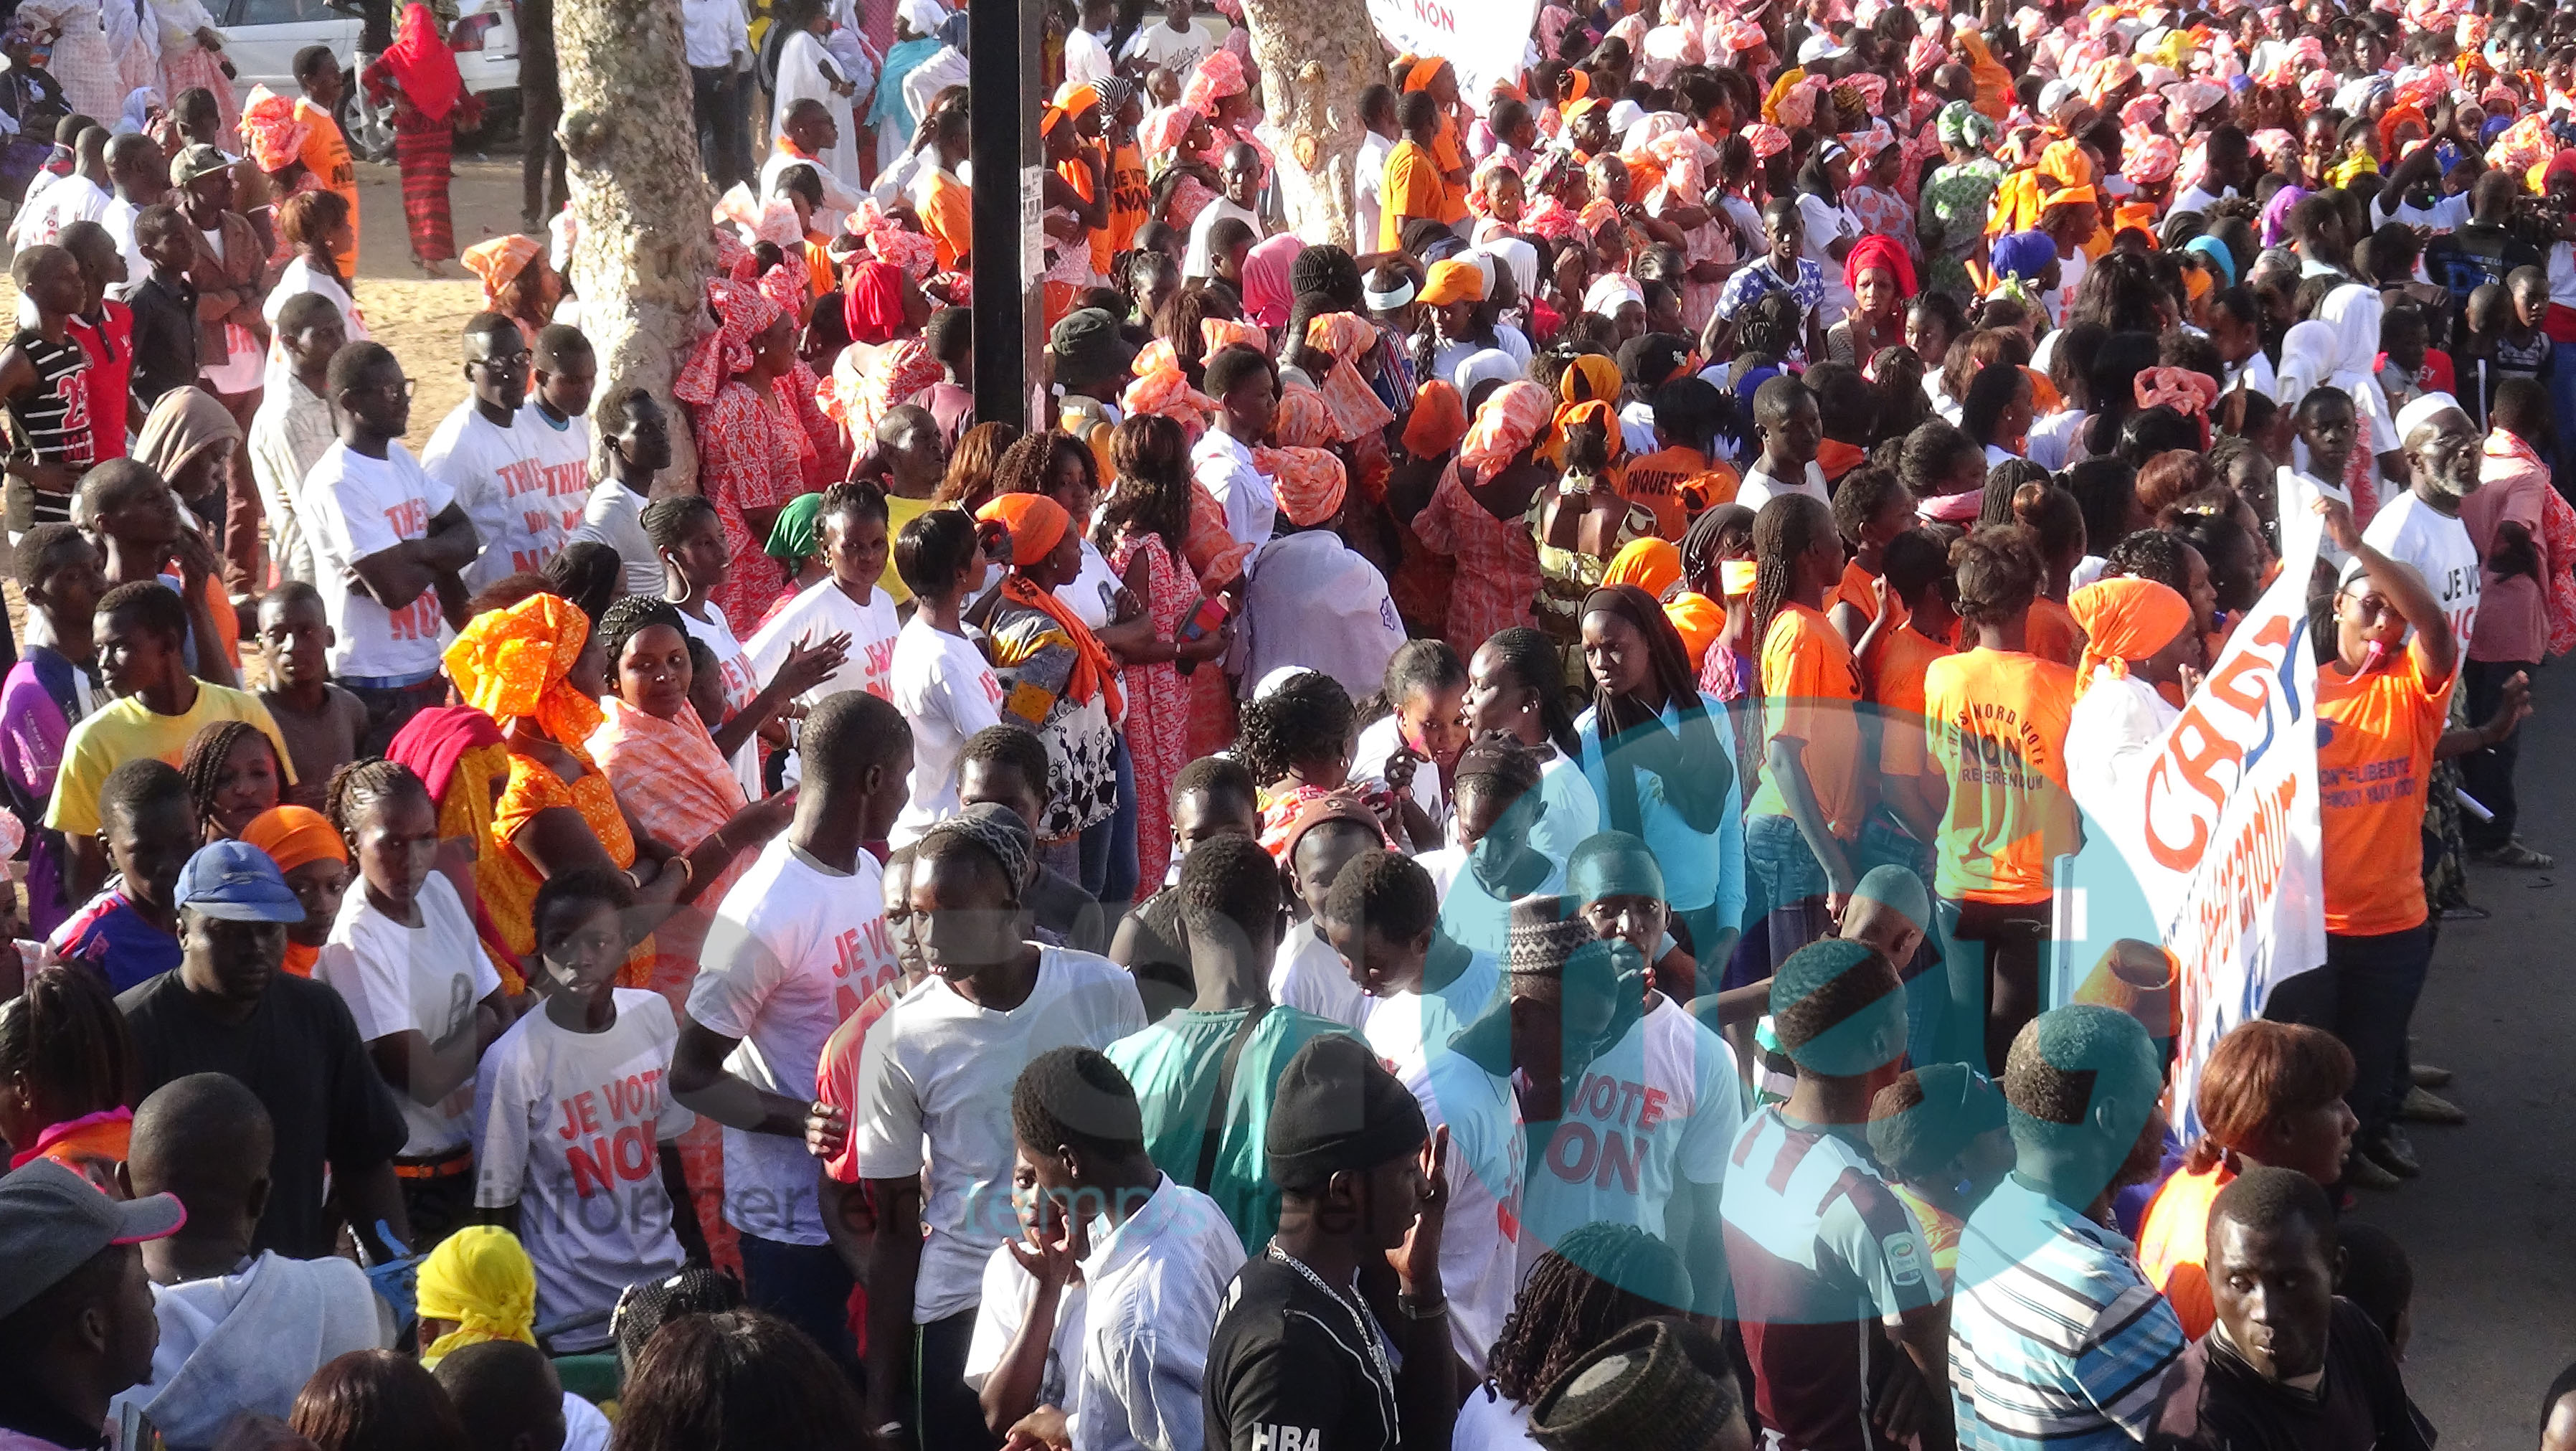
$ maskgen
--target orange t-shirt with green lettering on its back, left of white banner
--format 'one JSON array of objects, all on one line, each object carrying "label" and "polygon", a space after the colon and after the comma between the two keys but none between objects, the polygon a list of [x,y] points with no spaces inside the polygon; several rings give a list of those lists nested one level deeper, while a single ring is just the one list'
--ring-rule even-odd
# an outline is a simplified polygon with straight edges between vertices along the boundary
[{"label": "orange t-shirt with green lettering on its back, left of white banner", "polygon": [[2071,665],[1971,649],[1924,668],[1924,735],[1950,778],[1935,892],[1963,902],[2045,902],[2048,861],[2076,848],[2066,794]]}]

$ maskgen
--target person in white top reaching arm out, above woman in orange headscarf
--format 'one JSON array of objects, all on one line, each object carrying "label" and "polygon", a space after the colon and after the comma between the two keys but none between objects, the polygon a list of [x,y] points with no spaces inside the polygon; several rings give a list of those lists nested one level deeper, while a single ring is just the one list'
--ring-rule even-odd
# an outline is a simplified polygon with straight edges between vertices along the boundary
[{"label": "person in white top reaching arm out, above woman in orange headscarf", "polygon": [[[644,505],[641,523],[654,554],[662,557],[662,598],[680,611],[688,637],[706,644],[706,652],[716,660],[708,675],[721,693],[724,709],[711,716],[716,724],[708,727],[708,735],[716,737],[716,750],[734,763],[742,796],[757,799],[765,794],[760,783],[757,735],[791,701],[840,670],[850,649],[850,637],[835,634],[811,644],[793,642],[762,680],[752,670],[752,657],[742,649],[742,642],[734,639],[734,626],[724,619],[724,606],[711,598],[734,567],[724,554],[724,523],[716,518],[716,505],[706,495],[675,495]],[[781,732],[775,740],[783,742],[786,735]]]}]

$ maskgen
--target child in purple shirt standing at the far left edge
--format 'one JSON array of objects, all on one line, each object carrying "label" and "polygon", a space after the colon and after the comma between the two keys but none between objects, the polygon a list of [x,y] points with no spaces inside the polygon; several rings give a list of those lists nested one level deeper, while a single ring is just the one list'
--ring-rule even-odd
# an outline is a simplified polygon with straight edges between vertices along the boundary
[{"label": "child in purple shirt standing at the far left edge", "polygon": [[[70,523],[39,523],[18,539],[18,580],[26,608],[52,644],[28,644],[0,686],[0,781],[28,835],[26,930],[39,941],[72,912],[62,832],[44,825],[54,773],[72,727],[108,701],[90,644],[90,611],[108,593],[98,546]],[[28,631],[36,634],[36,631]]]}]

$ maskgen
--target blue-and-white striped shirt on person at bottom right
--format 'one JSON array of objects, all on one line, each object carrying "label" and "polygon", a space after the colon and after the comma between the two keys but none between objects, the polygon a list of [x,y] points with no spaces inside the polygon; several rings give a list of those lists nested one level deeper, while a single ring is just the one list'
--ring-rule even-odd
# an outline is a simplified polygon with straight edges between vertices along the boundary
[{"label": "blue-and-white striped shirt on person at bottom right", "polygon": [[2182,1322],[2136,1247],[2007,1178],[1968,1216],[1950,1302],[1963,1451],[2143,1443]]}]

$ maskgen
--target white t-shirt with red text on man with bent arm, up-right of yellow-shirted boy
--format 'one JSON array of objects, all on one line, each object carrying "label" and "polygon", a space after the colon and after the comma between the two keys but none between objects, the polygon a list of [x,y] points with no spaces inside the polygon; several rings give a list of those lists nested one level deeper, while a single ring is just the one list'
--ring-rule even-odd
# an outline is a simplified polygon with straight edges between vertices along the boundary
[{"label": "white t-shirt with red text on man with bent arm, up-right of yellow-shirted boy", "polygon": [[330,649],[332,675],[399,678],[435,675],[446,647],[438,590],[420,590],[399,608],[384,608],[348,585],[358,559],[374,559],[407,539],[425,539],[456,492],[440,485],[402,443],[384,459],[332,443],[304,474],[304,536],[314,546],[314,588],[340,637]]}]

